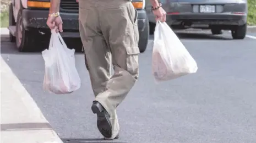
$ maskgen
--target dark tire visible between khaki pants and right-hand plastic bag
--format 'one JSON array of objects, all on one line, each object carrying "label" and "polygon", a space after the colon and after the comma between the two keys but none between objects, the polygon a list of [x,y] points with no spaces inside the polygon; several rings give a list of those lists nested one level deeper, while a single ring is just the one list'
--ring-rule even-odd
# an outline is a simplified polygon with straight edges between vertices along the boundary
[{"label": "dark tire visible between khaki pants and right-hand plastic bag", "polygon": [[143,53],[146,50],[146,47],[148,46],[148,41],[149,41],[149,21],[148,19],[146,19],[144,31],[141,31],[139,35],[140,53]]}]

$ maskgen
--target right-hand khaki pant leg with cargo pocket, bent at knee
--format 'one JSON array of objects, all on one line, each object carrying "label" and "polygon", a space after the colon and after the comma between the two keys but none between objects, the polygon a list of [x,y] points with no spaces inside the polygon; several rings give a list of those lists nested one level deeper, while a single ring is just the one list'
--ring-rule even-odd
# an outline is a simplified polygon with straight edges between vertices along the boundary
[{"label": "right-hand khaki pant leg with cargo pocket, bent at knee", "polygon": [[124,100],[138,79],[137,10],[127,0],[99,1],[100,26],[110,46],[114,74],[106,91],[96,96],[111,116],[112,138],[119,131],[116,107]]}]

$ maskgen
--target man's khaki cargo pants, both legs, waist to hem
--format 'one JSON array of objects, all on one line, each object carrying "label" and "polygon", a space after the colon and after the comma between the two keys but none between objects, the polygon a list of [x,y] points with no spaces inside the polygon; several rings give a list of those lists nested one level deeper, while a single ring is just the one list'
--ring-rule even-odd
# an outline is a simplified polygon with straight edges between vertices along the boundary
[{"label": "man's khaki cargo pants, both legs, waist to hem", "polygon": [[[127,0],[79,0],[79,28],[95,100],[118,134],[117,106],[138,79],[137,10]],[[110,64],[114,74],[110,74]]]}]

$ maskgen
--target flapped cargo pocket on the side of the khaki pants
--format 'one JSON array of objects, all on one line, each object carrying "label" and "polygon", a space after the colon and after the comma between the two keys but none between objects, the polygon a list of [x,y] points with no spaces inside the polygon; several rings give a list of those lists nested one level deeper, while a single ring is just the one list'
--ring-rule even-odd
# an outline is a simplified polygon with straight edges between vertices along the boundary
[{"label": "flapped cargo pocket on the side of the khaki pants", "polygon": [[135,79],[138,79],[139,74],[139,47],[126,47],[126,64],[127,72],[133,75]]}]

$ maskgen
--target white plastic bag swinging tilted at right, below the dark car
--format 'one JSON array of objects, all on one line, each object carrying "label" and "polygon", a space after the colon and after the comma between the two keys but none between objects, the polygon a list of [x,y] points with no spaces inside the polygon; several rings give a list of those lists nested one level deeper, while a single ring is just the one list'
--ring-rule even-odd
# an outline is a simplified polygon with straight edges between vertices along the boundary
[{"label": "white plastic bag swinging tilted at right, below the dark car", "polygon": [[152,52],[152,73],[166,81],[197,72],[197,63],[165,22],[157,21]]}]

